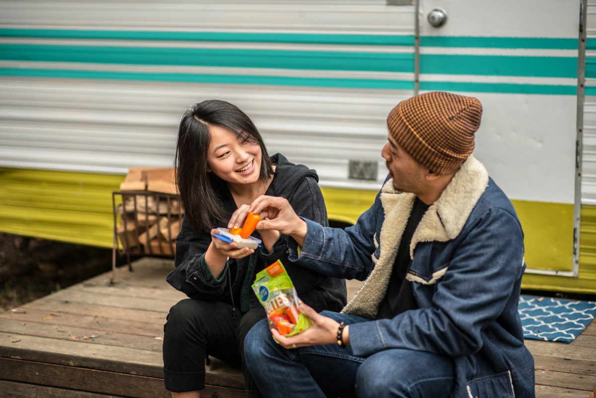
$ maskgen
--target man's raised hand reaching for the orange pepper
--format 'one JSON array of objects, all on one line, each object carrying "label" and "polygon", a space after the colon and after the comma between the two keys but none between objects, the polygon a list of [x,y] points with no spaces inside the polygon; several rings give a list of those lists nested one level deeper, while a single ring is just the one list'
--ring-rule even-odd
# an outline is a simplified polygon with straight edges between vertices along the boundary
[{"label": "man's raised hand reaching for the orange pepper", "polygon": [[262,219],[257,223],[257,229],[275,229],[290,235],[300,246],[304,245],[306,222],[297,216],[287,199],[262,195],[250,204],[249,210]]}]

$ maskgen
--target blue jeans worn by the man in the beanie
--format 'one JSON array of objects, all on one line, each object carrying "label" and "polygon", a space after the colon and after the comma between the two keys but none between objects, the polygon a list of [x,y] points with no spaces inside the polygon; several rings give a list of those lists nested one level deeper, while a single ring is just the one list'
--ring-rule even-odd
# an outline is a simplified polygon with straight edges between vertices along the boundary
[{"label": "blue jeans worn by the man in the beanie", "polygon": [[[346,325],[370,319],[323,311]],[[388,349],[366,358],[337,344],[286,350],[275,343],[266,320],[244,340],[244,356],[265,397],[325,398],[449,397],[454,387],[451,358],[433,353]]]}]

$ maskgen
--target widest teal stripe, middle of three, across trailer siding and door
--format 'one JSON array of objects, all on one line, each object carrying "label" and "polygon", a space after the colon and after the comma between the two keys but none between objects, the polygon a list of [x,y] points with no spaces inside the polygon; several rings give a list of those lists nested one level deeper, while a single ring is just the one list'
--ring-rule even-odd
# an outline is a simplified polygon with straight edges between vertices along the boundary
[{"label": "widest teal stripe, middle of three, across trailer siding and door", "polygon": [[[413,54],[260,49],[0,45],[14,61],[412,72]],[[421,54],[420,73],[577,77],[577,57]]]}]

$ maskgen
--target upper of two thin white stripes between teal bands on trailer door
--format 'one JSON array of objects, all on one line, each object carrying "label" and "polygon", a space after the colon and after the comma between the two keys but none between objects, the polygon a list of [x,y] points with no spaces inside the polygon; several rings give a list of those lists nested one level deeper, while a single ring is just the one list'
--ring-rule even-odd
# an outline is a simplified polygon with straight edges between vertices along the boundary
[{"label": "upper of two thin white stripes between teal bands on trailer door", "polygon": [[577,57],[573,49],[541,48],[486,48],[486,47],[425,47],[420,46],[420,54],[445,55],[509,55],[517,57]]}]

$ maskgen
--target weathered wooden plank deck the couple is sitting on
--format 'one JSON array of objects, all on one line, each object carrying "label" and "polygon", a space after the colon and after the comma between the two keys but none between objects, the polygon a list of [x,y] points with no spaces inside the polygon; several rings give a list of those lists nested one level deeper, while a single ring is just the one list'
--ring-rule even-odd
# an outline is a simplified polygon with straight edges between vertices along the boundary
[{"label": "weathered wooden plank deck the couple is sitting on", "polygon": [[[0,396],[170,397],[163,387],[163,324],[185,297],[165,282],[172,260],[145,257],[0,312]],[[350,297],[358,284],[349,283]],[[596,322],[570,344],[526,340],[536,397],[588,398],[596,388]],[[203,397],[244,396],[238,369],[214,360]]]}]

